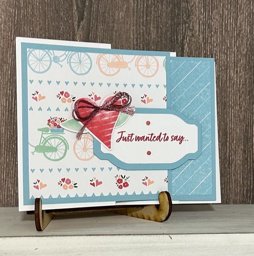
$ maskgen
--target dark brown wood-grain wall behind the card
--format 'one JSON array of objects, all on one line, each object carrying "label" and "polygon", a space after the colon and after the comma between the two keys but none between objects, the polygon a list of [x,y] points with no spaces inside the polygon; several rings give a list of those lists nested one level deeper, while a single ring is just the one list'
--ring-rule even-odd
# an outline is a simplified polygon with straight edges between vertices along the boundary
[{"label": "dark brown wood-grain wall behind the card", "polygon": [[18,205],[15,37],[216,61],[223,203],[254,203],[252,0],[0,0],[0,207]]}]

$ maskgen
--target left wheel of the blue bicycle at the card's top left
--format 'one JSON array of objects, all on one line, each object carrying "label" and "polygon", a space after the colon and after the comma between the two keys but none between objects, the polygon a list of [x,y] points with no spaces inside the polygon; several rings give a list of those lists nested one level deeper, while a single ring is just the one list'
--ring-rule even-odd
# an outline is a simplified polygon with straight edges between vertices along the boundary
[{"label": "left wheel of the blue bicycle at the card's top left", "polygon": [[27,55],[27,64],[35,73],[45,73],[52,64],[48,51],[31,49]]}]

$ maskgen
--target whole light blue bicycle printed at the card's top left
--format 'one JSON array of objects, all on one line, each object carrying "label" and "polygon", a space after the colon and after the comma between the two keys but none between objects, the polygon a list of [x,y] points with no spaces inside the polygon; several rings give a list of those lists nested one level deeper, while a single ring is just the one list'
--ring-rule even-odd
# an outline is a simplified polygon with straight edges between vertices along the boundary
[{"label": "whole light blue bicycle printed at the card's top left", "polygon": [[27,64],[35,73],[49,71],[52,62],[60,65],[67,59],[70,69],[76,75],[86,75],[92,68],[91,57],[87,53],[64,52],[56,55],[53,50],[29,49],[27,53]]}]

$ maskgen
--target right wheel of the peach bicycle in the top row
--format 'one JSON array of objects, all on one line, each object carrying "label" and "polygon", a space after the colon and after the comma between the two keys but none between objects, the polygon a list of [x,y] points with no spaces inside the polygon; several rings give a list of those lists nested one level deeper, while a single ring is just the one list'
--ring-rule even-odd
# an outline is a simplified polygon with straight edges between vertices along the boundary
[{"label": "right wheel of the peach bicycle in the top row", "polygon": [[159,69],[159,62],[154,56],[139,56],[136,66],[140,75],[153,77]]}]

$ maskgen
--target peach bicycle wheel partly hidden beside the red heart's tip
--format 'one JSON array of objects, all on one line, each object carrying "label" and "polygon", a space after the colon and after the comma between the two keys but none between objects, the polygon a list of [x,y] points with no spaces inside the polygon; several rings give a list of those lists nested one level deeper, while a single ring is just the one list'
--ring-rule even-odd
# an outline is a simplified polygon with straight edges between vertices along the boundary
[{"label": "peach bicycle wheel partly hidden beside the red heart's tip", "polygon": [[75,156],[81,161],[89,161],[94,157],[94,138],[85,134],[73,145]]}]

